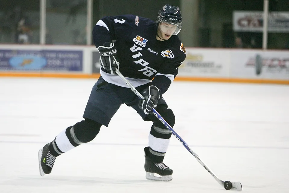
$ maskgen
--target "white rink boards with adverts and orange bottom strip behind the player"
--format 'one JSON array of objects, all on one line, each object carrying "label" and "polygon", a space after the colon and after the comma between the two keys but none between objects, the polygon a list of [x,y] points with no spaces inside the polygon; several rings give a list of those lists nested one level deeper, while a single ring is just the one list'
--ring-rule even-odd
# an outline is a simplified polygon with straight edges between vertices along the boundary
[{"label": "white rink boards with adverts and orange bottom strip behind the player", "polygon": [[[289,84],[289,51],[186,48],[176,81]],[[0,76],[98,78],[95,46],[0,45]]]}]

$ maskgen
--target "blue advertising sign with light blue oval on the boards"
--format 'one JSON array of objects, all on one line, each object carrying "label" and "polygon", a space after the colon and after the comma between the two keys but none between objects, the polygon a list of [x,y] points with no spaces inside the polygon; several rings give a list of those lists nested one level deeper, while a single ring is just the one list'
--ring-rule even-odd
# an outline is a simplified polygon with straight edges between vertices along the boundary
[{"label": "blue advertising sign with light blue oval on the boards", "polygon": [[82,71],[82,51],[0,50],[0,70]]}]

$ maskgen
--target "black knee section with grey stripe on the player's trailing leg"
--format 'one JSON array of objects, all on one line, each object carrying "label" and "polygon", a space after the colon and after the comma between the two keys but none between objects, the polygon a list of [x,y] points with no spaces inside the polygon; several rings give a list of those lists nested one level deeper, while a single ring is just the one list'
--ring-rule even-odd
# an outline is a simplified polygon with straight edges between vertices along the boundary
[{"label": "black knee section with grey stripe on the player's trailing leg", "polygon": [[73,127],[67,128],[66,135],[70,136],[76,144],[87,143],[95,138],[99,133],[100,127],[100,123],[91,119],[85,119],[76,123]]}]

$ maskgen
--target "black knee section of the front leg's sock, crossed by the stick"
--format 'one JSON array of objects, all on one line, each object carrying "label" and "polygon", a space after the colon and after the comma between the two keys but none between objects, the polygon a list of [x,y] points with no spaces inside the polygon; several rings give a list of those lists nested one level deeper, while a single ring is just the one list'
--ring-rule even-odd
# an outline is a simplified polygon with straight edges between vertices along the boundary
[{"label": "black knee section of the front leg's sock, crossed by the stick", "polygon": [[[172,109],[167,109],[165,106],[158,108],[157,112],[163,117],[163,119],[171,126],[173,127],[176,122],[176,118],[174,113],[172,112]],[[169,131],[168,128],[163,125],[163,123],[158,120],[153,120],[153,126],[151,127],[151,134],[156,138],[162,138],[162,139],[169,139],[172,135],[172,133]]]}]

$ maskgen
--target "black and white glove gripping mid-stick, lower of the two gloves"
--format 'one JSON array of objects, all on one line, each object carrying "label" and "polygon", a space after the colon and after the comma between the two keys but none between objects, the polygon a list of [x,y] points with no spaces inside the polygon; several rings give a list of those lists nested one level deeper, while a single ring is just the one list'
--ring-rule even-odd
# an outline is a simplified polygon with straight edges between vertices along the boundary
[{"label": "black and white glove gripping mid-stick, lower of the two gloves", "polygon": [[157,101],[160,99],[160,92],[156,86],[149,86],[141,92],[144,100],[141,99],[138,102],[139,108],[141,108],[145,114],[151,114],[152,109],[157,107]]}]

